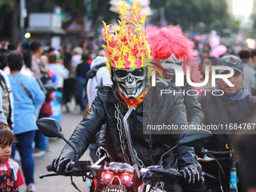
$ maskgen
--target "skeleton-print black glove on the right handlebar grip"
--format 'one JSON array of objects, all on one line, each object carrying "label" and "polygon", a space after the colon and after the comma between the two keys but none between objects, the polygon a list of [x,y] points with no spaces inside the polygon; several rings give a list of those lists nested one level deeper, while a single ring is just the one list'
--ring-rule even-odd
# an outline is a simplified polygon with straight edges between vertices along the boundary
[{"label": "skeleton-print black glove on the right handlebar grip", "polygon": [[204,181],[202,175],[197,169],[194,168],[184,168],[179,171],[183,177],[183,181],[181,181],[183,184],[199,184]]}]

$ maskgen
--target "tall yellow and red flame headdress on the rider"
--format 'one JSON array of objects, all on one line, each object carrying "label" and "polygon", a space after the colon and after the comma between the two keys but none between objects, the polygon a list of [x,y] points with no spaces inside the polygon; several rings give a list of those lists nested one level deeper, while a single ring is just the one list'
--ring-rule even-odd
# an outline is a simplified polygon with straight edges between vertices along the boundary
[{"label": "tall yellow and red flame headdress on the rider", "polygon": [[[107,46],[104,46],[106,62],[108,69],[136,69],[150,65],[151,50],[150,45],[146,41],[145,35],[145,17],[144,14],[137,14],[137,6],[133,4],[133,8],[123,8],[120,10],[121,20],[118,20],[120,31],[114,29],[112,25],[106,25],[102,21],[105,29],[105,37]],[[130,11],[132,18],[127,17],[127,11]]]}]

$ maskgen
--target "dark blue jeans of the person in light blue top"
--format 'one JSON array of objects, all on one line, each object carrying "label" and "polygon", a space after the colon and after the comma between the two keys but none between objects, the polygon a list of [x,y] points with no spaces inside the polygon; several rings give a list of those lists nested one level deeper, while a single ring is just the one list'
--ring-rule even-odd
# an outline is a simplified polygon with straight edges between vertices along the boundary
[{"label": "dark blue jeans of the person in light blue top", "polygon": [[11,158],[14,158],[15,150],[20,152],[21,166],[26,184],[35,183],[34,181],[34,159],[32,157],[32,142],[35,138],[35,131],[20,133],[15,135],[17,142],[11,148]]}]

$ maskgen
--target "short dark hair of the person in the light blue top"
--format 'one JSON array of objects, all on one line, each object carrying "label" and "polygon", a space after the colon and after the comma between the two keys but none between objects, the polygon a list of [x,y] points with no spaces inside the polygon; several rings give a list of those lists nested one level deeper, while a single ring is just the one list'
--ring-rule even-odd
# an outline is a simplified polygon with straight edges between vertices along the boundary
[{"label": "short dark hair of the person in the light blue top", "polygon": [[11,52],[7,61],[11,71],[20,71],[23,66],[23,54],[17,51]]}]

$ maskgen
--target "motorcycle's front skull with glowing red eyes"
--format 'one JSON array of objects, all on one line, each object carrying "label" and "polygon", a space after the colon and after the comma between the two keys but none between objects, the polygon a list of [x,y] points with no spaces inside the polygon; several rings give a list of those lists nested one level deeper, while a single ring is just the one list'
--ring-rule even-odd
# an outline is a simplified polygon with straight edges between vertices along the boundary
[{"label": "motorcycle's front skull with glowing red eyes", "polygon": [[136,170],[127,163],[107,163],[98,174],[96,191],[136,192],[138,186]]}]

